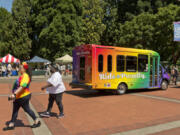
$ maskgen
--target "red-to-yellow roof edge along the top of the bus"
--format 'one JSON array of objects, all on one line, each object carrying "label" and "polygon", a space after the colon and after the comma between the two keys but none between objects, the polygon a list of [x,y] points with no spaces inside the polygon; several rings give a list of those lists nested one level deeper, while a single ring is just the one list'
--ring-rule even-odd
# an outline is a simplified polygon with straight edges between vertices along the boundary
[{"label": "red-to-yellow roof edge along the top of the bus", "polygon": [[159,56],[159,53],[152,51],[152,50],[146,50],[146,49],[135,49],[135,48],[125,48],[125,47],[116,47],[116,46],[105,46],[105,45],[96,45],[96,44],[85,44],[75,47],[75,49],[79,49],[79,47],[83,46],[91,46],[92,48],[104,48],[104,49],[115,49],[119,51],[125,51],[125,52],[135,52],[135,53],[145,53],[145,54],[152,54]]}]

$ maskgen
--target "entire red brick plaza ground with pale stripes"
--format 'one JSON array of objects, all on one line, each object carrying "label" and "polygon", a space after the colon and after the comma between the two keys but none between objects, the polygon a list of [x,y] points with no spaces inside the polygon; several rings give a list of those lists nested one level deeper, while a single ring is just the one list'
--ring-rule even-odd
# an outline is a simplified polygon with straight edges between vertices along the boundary
[{"label": "entire red brick plaza ground with pale stripes", "polygon": [[[13,79],[12,79],[13,80]],[[12,80],[0,80],[0,135],[179,135],[180,87],[167,91],[135,90],[119,96],[93,90],[71,89],[65,79],[67,91],[63,103],[65,117],[41,118],[42,126],[31,129],[32,120],[20,110],[14,131],[3,131],[11,118],[12,103],[8,102]],[[48,95],[40,90],[45,79],[31,84],[31,104],[36,113],[46,110]]]}]

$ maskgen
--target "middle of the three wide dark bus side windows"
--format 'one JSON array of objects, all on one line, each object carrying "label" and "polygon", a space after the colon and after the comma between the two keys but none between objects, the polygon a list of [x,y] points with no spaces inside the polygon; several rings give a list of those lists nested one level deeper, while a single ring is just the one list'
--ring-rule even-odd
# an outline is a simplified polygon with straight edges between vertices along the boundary
[{"label": "middle of the three wide dark bus side windows", "polygon": [[126,57],[126,71],[127,72],[136,72],[137,70],[137,57],[136,56],[127,56]]}]

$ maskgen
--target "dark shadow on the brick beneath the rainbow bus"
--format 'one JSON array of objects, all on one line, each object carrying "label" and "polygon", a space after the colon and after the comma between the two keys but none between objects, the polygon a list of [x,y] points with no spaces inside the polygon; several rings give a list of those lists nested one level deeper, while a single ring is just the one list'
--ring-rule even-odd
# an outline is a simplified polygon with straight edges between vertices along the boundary
[{"label": "dark shadow on the brick beneath the rainbow bus", "polygon": [[[134,89],[134,90],[128,90],[126,94],[124,95],[133,94],[133,93],[155,92],[155,91],[162,91],[162,90],[160,89]],[[120,96],[115,93],[115,90],[67,90],[65,93],[82,97],[82,98]]]}]

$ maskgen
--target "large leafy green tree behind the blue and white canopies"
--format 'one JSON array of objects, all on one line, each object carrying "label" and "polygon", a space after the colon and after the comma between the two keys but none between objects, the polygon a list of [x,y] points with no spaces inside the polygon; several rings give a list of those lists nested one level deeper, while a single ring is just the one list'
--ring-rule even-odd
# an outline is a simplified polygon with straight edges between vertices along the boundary
[{"label": "large leafy green tree behind the blue and white canopies", "polygon": [[80,44],[81,0],[34,0],[31,11],[34,53],[55,58],[71,53]]}]

